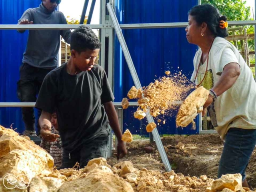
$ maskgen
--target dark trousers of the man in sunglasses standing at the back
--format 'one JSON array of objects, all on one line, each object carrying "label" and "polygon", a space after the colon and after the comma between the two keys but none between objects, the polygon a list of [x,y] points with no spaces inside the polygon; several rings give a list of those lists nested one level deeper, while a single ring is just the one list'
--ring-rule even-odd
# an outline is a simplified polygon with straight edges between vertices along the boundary
[{"label": "dark trousers of the man in sunglasses standing at the back", "polygon": [[[36,68],[26,63],[20,66],[20,80],[17,83],[17,95],[21,102],[36,102],[36,96],[39,93],[44,77],[51,70],[52,69]],[[38,110],[38,115],[41,115],[40,110]],[[26,130],[35,130],[34,108],[23,107],[22,119]],[[40,132],[39,126],[38,132]]]}]

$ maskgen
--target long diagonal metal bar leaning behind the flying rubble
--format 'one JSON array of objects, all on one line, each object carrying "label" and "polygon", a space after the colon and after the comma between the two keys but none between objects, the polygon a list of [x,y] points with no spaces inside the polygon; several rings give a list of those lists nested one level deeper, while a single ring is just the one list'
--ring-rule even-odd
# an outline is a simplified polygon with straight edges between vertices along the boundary
[{"label": "long diagonal metal bar leaning behind the flying rubble", "polygon": [[[135,84],[136,88],[139,89],[139,88],[141,88],[140,80],[138,78],[138,74],[137,74],[137,72],[135,70],[135,67],[134,67],[134,64],[132,62],[132,58],[130,56],[130,52],[129,52],[128,47],[126,45],[126,42],[124,40],[124,36],[122,34],[122,31],[121,31],[121,28],[119,26],[118,20],[116,18],[115,13],[114,13],[114,9],[113,9],[113,7],[112,7],[112,5],[110,3],[107,3],[107,8],[108,8],[108,12],[110,14],[110,17],[111,17],[113,25],[114,25],[114,28],[115,28],[115,31],[116,31],[116,35],[117,35],[118,40],[120,42],[120,45],[122,47],[122,50],[123,50],[123,53],[124,53],[124,57],[126,59],[126,62],[128,64],[130,73],[132,75],[132,79],[134,81],[134,84]],[[148,120],[149,123],[150,122],[154,122],[154,119],[150,115],[149,110],[146,113],[146,117],[147,117],[147,120]],[[169,160],[167,158],[167,155],[166,155],[166,152],[164,150],[164,146],[162,144],[162,141],[160,140],[160,136],[158,134],[158,130],[155,128],[152,131],[152,134],[153,134],[154,140],[156,141],[156,146],[158,148],[158,151],[159,151],[159,154],[161,156],[162,162],[165,165],[166,171],[171,171],[172,168],[170,166],[170,162],[169,162]]]}]

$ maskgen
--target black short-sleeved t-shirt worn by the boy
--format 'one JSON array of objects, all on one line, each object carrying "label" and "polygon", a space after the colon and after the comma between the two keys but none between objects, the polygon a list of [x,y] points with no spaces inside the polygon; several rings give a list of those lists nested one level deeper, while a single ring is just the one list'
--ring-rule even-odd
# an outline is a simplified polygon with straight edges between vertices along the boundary
[{"label": "black short-sleeved t-shirt worn by the boy", "polygon": [[84,142],[109,135],[103,104],[112,100],[114,96],[101,66],[70,75],[63,64],[46,75],[36,108],[51,114],[56,108],[63,148],[71,152]]}]

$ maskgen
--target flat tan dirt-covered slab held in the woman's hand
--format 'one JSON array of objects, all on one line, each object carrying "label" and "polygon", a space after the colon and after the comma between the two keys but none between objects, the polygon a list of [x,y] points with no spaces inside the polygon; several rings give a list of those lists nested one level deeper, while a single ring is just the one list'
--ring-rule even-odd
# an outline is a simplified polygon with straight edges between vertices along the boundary
[{"label": "flat tan dirt-covered slab held in the woman's hand", "polygon": [[198,114],[198,108],[204,106],[208,99],[209,91],[204,87],[199,87],[188,95],[184,100],[176,117],[176,125],[186,127]]}]

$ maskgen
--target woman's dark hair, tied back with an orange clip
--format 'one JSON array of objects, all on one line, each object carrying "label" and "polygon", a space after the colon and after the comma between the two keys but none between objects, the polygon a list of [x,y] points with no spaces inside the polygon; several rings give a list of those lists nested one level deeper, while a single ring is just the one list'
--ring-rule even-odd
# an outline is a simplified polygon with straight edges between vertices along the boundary
[{"label": "woman's dark hair, tied back with an orange clip", "polygon": [[227,17],[221,16],[218,9],[209,4],[194,6],[189,12],[188,15],[193,16],[198,25],[206,23],[209,30],[218,37],[227,37],[228,29],[220,28],[220,21],[223,20],[226,22]]}]

